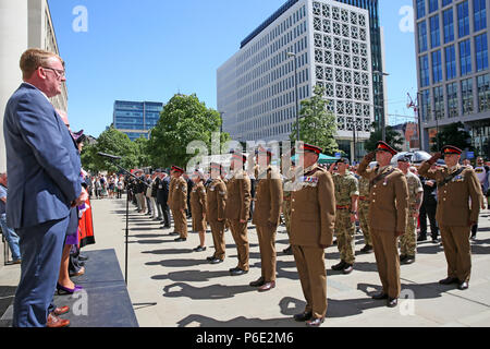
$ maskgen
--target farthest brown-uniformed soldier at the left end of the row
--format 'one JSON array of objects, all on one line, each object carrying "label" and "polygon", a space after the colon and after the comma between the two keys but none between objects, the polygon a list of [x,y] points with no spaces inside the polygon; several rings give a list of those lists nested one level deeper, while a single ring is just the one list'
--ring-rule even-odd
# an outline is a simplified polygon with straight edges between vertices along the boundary
[{"label": "farthest brown-uniformed soldier at the left end of the row", "polygon": [[172,210],[175,232],[180,234],[176,242],[187,240],[187,182],[182,177],[184,170],[177,166],[172,166],[173,180],[170,182],[169,207]]}]

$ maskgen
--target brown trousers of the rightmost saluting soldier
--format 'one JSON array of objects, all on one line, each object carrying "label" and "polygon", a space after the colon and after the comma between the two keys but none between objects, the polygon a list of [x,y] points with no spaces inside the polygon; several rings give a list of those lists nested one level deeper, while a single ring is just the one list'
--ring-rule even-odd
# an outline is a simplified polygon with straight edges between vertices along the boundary
[{"label": "brown trousers of the rightmost saluting soldier", "polygon": [[448,276],[468,282],[471,274],[469,227],[440,227],[442,245],[448,261]]}]

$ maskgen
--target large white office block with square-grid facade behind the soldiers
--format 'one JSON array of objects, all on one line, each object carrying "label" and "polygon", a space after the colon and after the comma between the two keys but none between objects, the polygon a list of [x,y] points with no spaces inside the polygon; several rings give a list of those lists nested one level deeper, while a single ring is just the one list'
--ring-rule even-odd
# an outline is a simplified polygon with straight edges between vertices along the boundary
[{"label": "large white office block with square-grid facade behind the soldiers", "polygon": [[368,10],[339,1],[287,1],[218,69],[223,131],[241,142],[289,140],[296,120],[295,59],[298,99],[324,86],[336,139],[353,154],[354,128],[362,142],[375,121],[369,21]]}]

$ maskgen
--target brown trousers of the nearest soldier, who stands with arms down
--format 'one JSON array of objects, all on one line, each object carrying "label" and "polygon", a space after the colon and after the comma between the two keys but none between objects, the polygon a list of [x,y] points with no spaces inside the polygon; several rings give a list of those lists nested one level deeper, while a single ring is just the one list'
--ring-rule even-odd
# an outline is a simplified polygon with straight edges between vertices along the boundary
[{"label": "brown trousers of the nearest soldier, who stands with arms down", "polygon": [[324,250],[321,248],[293,245],[294,261],[306,299],[305,312],[314,317],[327,314],[327,270]]}]

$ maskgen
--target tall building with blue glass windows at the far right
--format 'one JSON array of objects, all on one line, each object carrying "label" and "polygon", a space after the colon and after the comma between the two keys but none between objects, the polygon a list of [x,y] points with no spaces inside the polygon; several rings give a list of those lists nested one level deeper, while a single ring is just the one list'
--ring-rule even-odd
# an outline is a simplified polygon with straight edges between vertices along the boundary
[{"label": "tall building with blue glass windows at the far right", "polygon": [[418,104],[425,149],[463,122],[476,155],[490,158],[490,0],[414,0]]}]

